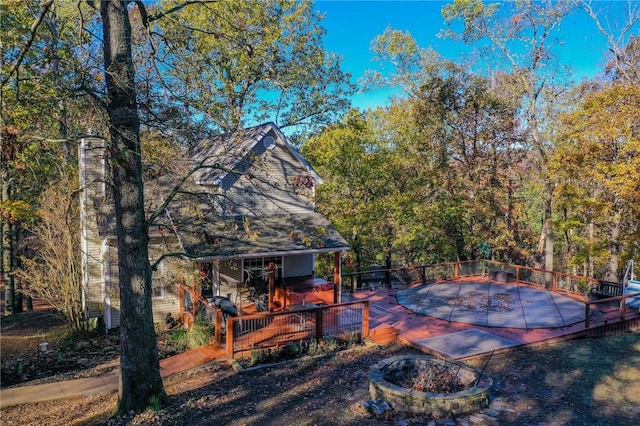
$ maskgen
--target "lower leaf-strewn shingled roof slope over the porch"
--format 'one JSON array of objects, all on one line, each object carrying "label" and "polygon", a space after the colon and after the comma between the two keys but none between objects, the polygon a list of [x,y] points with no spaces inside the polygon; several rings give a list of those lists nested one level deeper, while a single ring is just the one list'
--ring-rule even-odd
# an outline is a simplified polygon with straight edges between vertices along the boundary
[{"label": "lower leaf-strewn shingled roof slope over the porch", "polygon": [[[229,259],[349,250],[349,244],[321,213],[220,216],[206,202],[177,202],[154,221],[149,236],[177,238],[179,250],[193,259]],[[111,206],[98,211],[102,237],[115,238]],[[174,240],[175,241],[175,240]]]}]

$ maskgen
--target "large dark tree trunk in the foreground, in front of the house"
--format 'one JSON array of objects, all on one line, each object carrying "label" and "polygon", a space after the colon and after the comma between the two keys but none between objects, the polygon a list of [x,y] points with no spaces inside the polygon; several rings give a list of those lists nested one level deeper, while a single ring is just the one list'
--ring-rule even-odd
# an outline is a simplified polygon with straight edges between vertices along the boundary
[{"label": "large dark tree trunk in the foreground, in front of the house", "polygon": [[151,310],[151,267],[128,4],[129,1],[103,0],[100,6],[118,235],[121,413],[162,406],[167,400]]}]

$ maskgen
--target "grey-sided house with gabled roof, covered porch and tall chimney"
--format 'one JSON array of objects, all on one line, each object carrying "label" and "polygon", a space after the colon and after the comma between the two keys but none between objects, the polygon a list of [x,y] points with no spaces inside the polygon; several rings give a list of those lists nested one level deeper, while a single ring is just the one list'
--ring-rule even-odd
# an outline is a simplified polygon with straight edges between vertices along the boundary
[{"label": "grey-sided house with gabled roof, covered porch and tall chimney", "polygon": [[[118,236],[104,147],[99,138],[80,144],[83,303],[88,317],[113,328]],[[156,213],[149,222],[154,321],[180,310],[181,284],[241,306],[262,294],[270,310],[340,301],[340,256],[349,246],[315,211],[322,179],[277,126],[201,141],[172,164],[171,172],[145,176],[146,210]],[[331,281],[315,277],[320,253],[333,253]]]}]

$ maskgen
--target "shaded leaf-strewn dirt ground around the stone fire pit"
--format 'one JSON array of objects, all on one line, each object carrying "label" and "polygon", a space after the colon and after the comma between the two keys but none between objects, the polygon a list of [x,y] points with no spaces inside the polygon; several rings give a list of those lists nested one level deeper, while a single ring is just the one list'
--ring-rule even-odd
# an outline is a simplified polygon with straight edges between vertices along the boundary
[{"label": "shaded leaf-strewn dirt ground around the stone fire pit", "polygon": [[[38,354],[43,334],[52,352],[62,355]],[[116,337],[71,345],[62,334],[61,323],[42,311],[3,317],[2,387],[117,371]],[[491,407],[471,416],[434,420],[393,410],[372,413],[366,406],[369,367],[380,359],[414,352],[400,344],[367,345],[245,372],[214,362],[168,377],[170,405],[160,411],[114,417],[117,395],[110,393],[8,407],[0,411],[0,424],[624,426],[636,425],[640,417],[638,332],[526,347],[469,361],[486,367],[494,380]],[[23,372],[12,382],[18,358]],[[52,368],[56,362],[66,367]]]}]

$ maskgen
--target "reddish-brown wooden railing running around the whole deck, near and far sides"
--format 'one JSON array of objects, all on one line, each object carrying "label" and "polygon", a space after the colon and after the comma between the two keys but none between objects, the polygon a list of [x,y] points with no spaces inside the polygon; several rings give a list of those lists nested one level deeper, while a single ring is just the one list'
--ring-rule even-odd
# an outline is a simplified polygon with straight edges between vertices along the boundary
[{"label": "reddish-brown wooden railing running around the whole deck, near and far sides", "polygon": [[[628,319],[628,314],[634,318],[638,316],[635,309],[629,312],[625,304],[627,298],[637,294],[589,300],[592,290],[602,288],[603,284],[619,285],[617,283],[490,260],[351,272],[342,274],[342,283],[353,293],[375,286],[405,286],[465,277],[484,277],[496,271],[508,273],[514,283],[542,287],[581,299],[585,303],[585,329],[598,326],[594,324],[597,321],[591,320],[594,310],[600,310],[598,307],[610,306],[615,302],[619,302],[620,305],[621,321]],[[180,296],[183,312],[189,312],[192,318],[198,314],[205,314],[211,318],[215,328],[215,342],[224,344],[227,355],[231,358],[238,355],[246,356],[252,350],[282,347],[312,340],[321,341],[347,334],[355,333],[360,337],[369,335],[369,301],[367,300],[332,305],[296,306],[293,309],[278,312],[229,317],[223,315],[220,309],[208,304],[208,301],[193,288],[181,286]],[[207,309],[203,310],[205,306]]]}]

